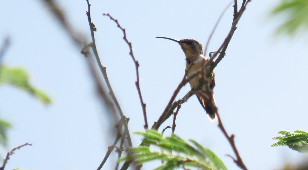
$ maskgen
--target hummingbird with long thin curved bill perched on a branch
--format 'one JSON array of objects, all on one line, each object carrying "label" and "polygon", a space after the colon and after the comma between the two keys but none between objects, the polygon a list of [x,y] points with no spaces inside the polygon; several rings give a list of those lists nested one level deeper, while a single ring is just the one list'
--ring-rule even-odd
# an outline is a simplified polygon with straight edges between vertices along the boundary
[{"label": "hummingbird with long thin curved bill perched on a branch", "polygon": [[[202,44],[197,40],[194,39],[177,40],[168,37],[156,37],[156,38],[169,39],[180,44],[186,57],[185,70],[188,71],[186,77],[189,77],[190,75],[200,70],[209,60],[202,54],[203,53]],[[215,74],[212,72],[210,77],[207,77],[207,70],[209,68],[208,66],[209,65],[207,65],[207,67],[205,67],[199,75],[191,79],[189,81],[189,84],[191,89],[195,89],[201,83],[201,88],[200,90],[197,89],[196,96],[201,106],[206,111],[209,120],[213,122],[215,119],[215,114],[217,113],[217,107],[215,104],[214,91],[213,91],[215,87]]]}]

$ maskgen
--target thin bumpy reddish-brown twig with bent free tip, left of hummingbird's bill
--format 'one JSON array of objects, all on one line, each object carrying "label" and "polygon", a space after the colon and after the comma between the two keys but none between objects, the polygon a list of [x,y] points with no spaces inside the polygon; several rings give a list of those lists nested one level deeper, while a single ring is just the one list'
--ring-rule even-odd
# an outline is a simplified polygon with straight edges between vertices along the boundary
[{"label": "thin bumpy reddish-brown twig with bent free tip, left of hummingbird's bill", "polygon": [[142,95],[141,95],[141,90],[140,90],[140,85],[139,85],[139,63],[138,61],[135,59],[134,57],[134,54],[133,54],[133,50],[132,50],[132,43],[128,41],[128,39],[126,38],[126,32],[125,32],[125,29],[122,28],[118,22],[118,20],[114,19],[113,17],[111,17],[109,14],[103,14],[103,15],[106,15],[108,16],[111,20],[113,20],[117,26],[123,31],[123,39],[124,41],[128,44],[128,47],[129,47],[129,55],[132,57],[134,63],[135,63],[135,67],[136,67],[136,77],[137,77],[137,80],[135,82],[136,84],[136,87],[137,87],[137,91],[138,91],[138,95],[139,95],[139,99],[140,99],[140,104],[141,104],[141,107],[142,107],[142,111],[143,111],[143,117],[144,117],[144,128],[147,129],[148,128],[148,120],[147,120],[147,113],[146,113],[146,110],[145,110],[145,107],[146,107],[146,104],[143,102],[143,99],[142,99]]}]

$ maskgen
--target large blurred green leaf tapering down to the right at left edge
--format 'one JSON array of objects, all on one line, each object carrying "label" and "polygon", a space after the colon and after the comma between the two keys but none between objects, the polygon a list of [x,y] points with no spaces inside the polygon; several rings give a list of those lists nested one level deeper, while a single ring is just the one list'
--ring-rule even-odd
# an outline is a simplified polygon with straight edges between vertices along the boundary
[{"label": "large blurred green leaf tapering down to the right at left edge", "polygon": [[45,93],[29,84],[29,76],[26,71],[21,68],[9,68],[2,65],[0,67],[0,84],[2,83],[8,83],[18,87],[29,94],[34,95],[45,104],[51,103],[51,99]]}]

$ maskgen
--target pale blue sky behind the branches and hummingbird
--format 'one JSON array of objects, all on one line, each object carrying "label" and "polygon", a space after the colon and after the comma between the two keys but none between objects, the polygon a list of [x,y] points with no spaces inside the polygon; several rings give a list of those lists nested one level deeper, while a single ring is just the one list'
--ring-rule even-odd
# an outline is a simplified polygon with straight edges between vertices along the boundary
[{"label": "pale blue sky behind the branches and hummingbird", "polygon": [[[205,44],[217,18],[229,0],[221,1],[90,1],[98,52],[107,67],[111,85],[130,132],[143,131],[142,109],[135,87],[135,66],[128,55],[122,32],[103,13],[110,13],[126,29],[134,55],[140,63],[140,87],[151,126],[163,112],[185,68],[184,53],[176,39],[193,38]],[[307,37],[274,37],[280,18],[268,13],[278,0],[252,1],[243,14],[225,58],[215,69],[215,99],[228,133],[244,163],[251,170],[278,169],[286,162],[306,158],[287,147],[270,144],[279,130],[307,129]],[[87,37],[90,31],[85,0],[59,1],[74,29]],[[53,104],[45,107],[32,96],[9,86],[0,87],[1,119],[9,121],[11,148],[15,152],[6,169],[96,169],[111,145],[108,119],[101,108],[85,58],[40,1],[1,1],[0,34],[11,45],[4,63],[23,67],[31,83],[46,91]],[[232,22],[230,6],[209,45],[215,51],[224,41]],[[185,86],[176,99],[189,90]],[[168,119],[162,127],[172,124]],[[234,155],[217,127],[210,123],[197,98],[184,103],[177,116],[175,133],[194,139],[219,156],[229,169],[237,169],[225,154]],[[166,134],[170,134],[170,130]],[[132,135],[133,144],[140,136]],[[103,169],[113,169],[115,152]],[[151,169],[153,164],[144,165]]]}]

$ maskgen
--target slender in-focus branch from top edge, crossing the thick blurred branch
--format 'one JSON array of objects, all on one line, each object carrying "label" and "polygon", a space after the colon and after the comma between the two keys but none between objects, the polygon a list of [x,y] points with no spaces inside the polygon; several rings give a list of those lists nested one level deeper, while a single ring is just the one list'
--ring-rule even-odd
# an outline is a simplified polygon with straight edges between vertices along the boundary
[{"label": "slender in-focus branch from top edge, crossing the thick blurred branch", "polygon": [[[97,52],[97,48],[96,48],[96,44],[95,44],[95,37],[94,37],[94,31],[96,31],[96,28],[95,28],[94,23],[91,22],[91,11],[90,11],[90,6],[91,5],[89,3],[89,0],[86,0],[86,1],[87,1],[87,5],[88,5],[87,17],[88,17],[88,22],[89,22],[90,31],[91,31],[91,37],[92,37],[92,44],[91,44],[92,51],[94,53],[94,56],[96,58],[96,61],[97,61],[98,65],[99,65],[99,69],[100,69],[101,73],[103,74],[103,77],[104,77],[105,82],[107,84],[107,87],[108,87],[108,90],[109,90],[109,94],[110,94],[113,102],[115,103],[115,106],[116,106],[117,110],[120,113],[121,119],[124,119],[125,115],[123,114],[123,111],[122,111],[122,109],[120,107],[120,104],[119,104],[118,100],[116,99],[115,94],[114,94],[114,92],[112,90],[111,84],[110,84],[108,76],[107,76],[106,67],[103,67],[103,65],[102,65],[102,63],[100,61],[98,52]],[[124,127],[125,127],[124,131],[126,133],[126,137],[127,137],[127,140],[128,140],[128,146],[132,147],[132,139],[131,139],[131,136],[129,134],[128,125],[125,122],[124,122]]]}]

